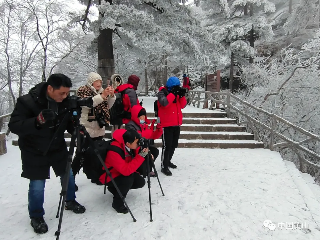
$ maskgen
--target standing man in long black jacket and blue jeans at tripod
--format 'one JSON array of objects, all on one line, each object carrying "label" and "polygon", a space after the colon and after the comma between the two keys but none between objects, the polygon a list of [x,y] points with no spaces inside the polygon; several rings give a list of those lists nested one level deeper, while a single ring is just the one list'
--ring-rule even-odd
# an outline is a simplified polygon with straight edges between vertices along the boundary
[{"label": "standing man in long black jacket and blue jeans at tripod", "polygon": [[[29,93],[17,99],[9,129],[19,136],[21,177],[30,180],[28,211],[36,233],[45,233],[44,186],[50,179],[50,167],[61,183],[65,175],[68,149],[64,132],[72,133],[68,115],[68,94],[71,80],[63,74],[52,74],[47,82],[37,84]],[[54,139],[53,139],[54,138]],[[52,141],[52,142],[51,142]],[[75,180],[70,171],[65,209],[84,213],[85,207],[76,202]]]}]

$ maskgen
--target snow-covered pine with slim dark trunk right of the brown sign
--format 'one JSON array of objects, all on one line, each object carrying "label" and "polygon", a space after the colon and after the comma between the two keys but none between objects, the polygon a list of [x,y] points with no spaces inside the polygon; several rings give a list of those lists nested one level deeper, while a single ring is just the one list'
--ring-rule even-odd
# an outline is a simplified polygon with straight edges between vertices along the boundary
[{"label": "snow-covered pine with slim dark trunk right of the brown sign", "polygon": [[232,89],[235,54],[250,57],[250,63],[253,63],[254,35],[265,41],[273,36],[271,24],[265,16],[275,12],[275,5],[268,0],[203,0],[200,6],[206,13],[204,26],[215,41],[225,46],[230,56],[229,88]]}]

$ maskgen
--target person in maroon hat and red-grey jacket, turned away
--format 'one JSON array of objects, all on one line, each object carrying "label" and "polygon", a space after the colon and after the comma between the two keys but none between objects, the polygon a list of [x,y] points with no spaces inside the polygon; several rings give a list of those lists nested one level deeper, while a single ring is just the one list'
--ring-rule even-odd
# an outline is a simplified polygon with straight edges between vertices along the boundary
[{"label": "person in maroon hat and red-grey jacket, turned away", "polygon": [[124,106],[125,116],[122,119],[122,124],[127,124],[131,121],[131,108],[134,105],[140,105],[137,96],[137,88],[139,84],[140,78],[137,75],[130,75],[128,77],[128,82],[126,84],[119,85],[115,93],[123,92],[122,104]]}]

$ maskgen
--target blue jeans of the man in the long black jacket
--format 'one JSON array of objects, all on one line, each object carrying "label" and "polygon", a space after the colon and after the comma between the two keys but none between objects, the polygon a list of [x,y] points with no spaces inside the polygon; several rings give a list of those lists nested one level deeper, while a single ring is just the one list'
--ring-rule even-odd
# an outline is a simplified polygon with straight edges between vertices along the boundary
[{"label": "blue jeans of the man in the long black jacket", "polygon": [[[60,176],[60,182],[62,185],[63,175]],[[40,218],[44,216],[44,187],[45,187],[45,179],[44,180],[30,180],[29,183],[29,192],[28,192],[28,210],[30,218]],[[72,173],[72,169],[70,169],[70,177],[68,183],[67,190],[67,198],[66,201],[72,201],[76,199],[75,193],[75,178]],[[58,199],[57,199],[58,200]]]}]

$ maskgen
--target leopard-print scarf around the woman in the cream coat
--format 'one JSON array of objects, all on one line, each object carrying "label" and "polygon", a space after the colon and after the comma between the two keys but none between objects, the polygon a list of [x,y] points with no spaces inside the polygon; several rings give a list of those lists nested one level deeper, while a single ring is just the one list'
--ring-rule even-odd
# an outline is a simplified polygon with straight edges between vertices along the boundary
[{"label": "leopard-print scarf around the woman in the cream coat", "polygon": [[[101,91],[100,94],[102,94],[103,91]],[[80,98],[88,98],[97,95],[95,92],[91,90],[88,86],[82,86],[79,87],[79,89],[76,92],[77,96]],[[98,104],[94,107],[94,116],[97,116],[99,113],[103,113],[104,121],[108,124],[110,124],[110,113],[109,113],[109,106],[108,106],[108,97],[103,99],[103,102]]]}]

